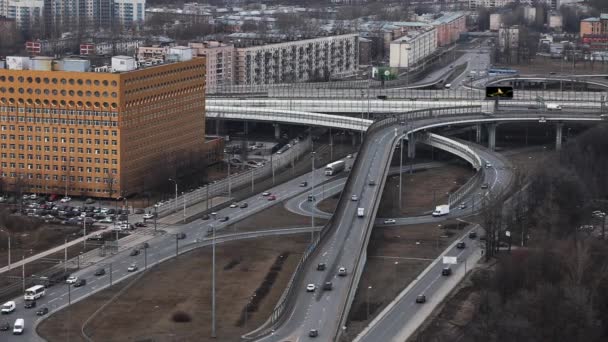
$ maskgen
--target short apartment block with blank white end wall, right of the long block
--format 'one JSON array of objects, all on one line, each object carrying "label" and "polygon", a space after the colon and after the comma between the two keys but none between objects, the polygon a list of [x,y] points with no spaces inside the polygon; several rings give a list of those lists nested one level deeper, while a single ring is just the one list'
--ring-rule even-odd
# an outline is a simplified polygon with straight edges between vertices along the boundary
[{"label": "short apartment block with blank white end wall, right of the long block", "polygon": [[437,29],[409,31],[391,42],[389,65],[393,68],[410,68],[437,50]]}]

